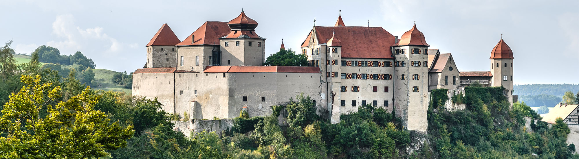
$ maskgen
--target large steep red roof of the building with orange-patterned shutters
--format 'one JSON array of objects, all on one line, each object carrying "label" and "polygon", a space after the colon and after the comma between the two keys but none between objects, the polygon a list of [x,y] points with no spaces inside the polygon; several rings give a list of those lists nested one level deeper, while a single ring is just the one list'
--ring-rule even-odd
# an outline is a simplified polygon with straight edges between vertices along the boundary
[{"label": "large steep red roof of the building with orange-patterned shutters", "polygon": [[344,58],[394,58],[390,46],[394,36],[382,27],[320,27],[315,26],[302,47],[309,45],[312,33],[316,32],[318,44],[327,43],[332,32],[340,38]]}]

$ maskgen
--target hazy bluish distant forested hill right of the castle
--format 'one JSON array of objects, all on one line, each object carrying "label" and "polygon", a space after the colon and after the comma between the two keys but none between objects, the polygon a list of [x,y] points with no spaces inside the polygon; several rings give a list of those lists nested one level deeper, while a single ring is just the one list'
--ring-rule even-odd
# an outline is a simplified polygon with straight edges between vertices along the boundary
[{"label": "hazy bluish distant forested hill right of the castle", "polygon": [[561,97],[566,91],[577,93],[579,84],[525,84],[515,85],[514,90],[514,94],[519,95],[519,101],[528,106],[553,107],[562,101]]}]

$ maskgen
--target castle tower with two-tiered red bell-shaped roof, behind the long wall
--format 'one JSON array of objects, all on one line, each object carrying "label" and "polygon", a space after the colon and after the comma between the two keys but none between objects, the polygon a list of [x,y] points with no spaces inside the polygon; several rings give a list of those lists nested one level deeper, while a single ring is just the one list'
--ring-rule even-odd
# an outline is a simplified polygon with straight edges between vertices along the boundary
[{"label": "castle tower with two-tiered red bell-shaped roof, behind the long wall", "polygon": [[255,33],[258,23],[241,14],[228,23],[231,31],[219,38],[222,65],[263,65],[265,61],[265,38]]}]

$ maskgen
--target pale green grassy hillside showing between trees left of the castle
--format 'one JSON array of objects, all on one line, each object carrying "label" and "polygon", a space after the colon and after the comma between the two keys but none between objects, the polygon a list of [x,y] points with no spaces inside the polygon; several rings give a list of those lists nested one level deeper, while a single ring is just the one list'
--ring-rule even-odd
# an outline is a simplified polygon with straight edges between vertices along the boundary
[{"label": "pale green grassy hillside showing between trees left of the castle", "polygon": [[[26,62],[30,62],[30,56],[24,55],[14,55],[14,60],[16,60],[16,64],[23,64]],[[41,62],[41,64],[46,64]],[[115,74],[115,71],[110,71],[108,69],[93,69],[94,72],[94,83],[93,89],[95,90],[104,90],[104,91],[121,91],[127,94],[131,94],[131,89],[124,88],[123,86],[119,86],[111,82],[112,75]]]}]

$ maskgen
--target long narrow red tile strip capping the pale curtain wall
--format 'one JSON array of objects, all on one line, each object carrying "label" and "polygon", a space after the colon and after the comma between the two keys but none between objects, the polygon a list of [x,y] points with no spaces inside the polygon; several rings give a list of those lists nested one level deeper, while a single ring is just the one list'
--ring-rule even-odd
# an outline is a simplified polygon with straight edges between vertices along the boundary
[{"label": "long narrow red tile strip capping the pale curtain wall", "polygon": [[318,67],[306,66],[207,66],[203,72],[291,72],[291,73],[320,73]]}]

